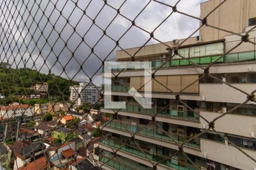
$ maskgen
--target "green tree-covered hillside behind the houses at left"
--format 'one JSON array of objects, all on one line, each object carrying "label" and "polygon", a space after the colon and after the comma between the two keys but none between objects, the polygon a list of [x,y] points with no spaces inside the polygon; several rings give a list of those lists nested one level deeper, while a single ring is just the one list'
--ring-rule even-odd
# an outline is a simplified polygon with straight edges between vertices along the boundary
[{"label": "green tree-covered hillside behind the houses at left", "polygon": [[0,63],[0,80],[0,94],[4,94],[6,100],[10,96],[34,94],[35,91],[29,88],[39,82],[48,83],[50,97],[61,100],[63,95],[68,100],[69,86],[79,84],[52,73],[46,75],[28,68],[13,69],[7,63]]}]

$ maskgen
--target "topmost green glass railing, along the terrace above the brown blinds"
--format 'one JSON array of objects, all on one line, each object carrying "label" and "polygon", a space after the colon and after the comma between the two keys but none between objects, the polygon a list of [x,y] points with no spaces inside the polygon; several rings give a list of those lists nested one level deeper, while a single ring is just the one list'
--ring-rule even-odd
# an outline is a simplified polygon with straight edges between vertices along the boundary
[{"label": "topmost green glass railing, along the terrace above the brown blinds", "polygon": [[[193,58],[189,58],[191,62],[183,58],[175,58],[168,62],[166,61],[151,61],[151,62],[152,62],[153,69],[157,69],[159,67],[187,66],[187,65],[193,65],[193,63],[197,63],[199,65],[205,65],[205,64],[209,64],[216,61],[216,59],[218,59],[221,56],[222,54],[219,54],[217,56],[193,57]],[[255,60],[256,60],[256,52],[249,51],[249,52],[226,54],[225,56],[218,59],[216,63],[232,63],[232,62],[245,62],[245,61],[255,61]],[[121,71],[121,70],[123,69],[114,69],[114,70],[112,69],[112,71]],[[125,69],[125,70],[131,70],[131,69]],[[102,72],[104,72],[104,69],[102,70]]]}]

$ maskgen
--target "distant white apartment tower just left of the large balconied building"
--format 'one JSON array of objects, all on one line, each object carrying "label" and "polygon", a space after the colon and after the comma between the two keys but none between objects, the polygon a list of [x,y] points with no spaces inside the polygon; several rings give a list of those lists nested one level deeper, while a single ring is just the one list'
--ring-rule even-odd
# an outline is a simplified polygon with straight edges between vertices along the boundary
[{"label": "distant white apartment tower just left of the large balconied building", "polygon": [[69,89],[71,91],[70,100],[74,102],[75,106],[81,106],[83,103],[95,104],[100,96],[98,88],[87,82],[81,82],[79,86],[70,86]]}]

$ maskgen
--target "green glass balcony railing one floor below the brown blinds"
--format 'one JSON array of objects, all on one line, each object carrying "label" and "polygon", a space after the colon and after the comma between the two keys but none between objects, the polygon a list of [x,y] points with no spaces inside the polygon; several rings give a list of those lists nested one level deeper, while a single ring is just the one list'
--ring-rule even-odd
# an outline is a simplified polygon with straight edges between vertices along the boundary
[{"label": "green glass balcony railing one floor below the brown blinds", "polygon": [[151,114],[158,117],[171,117],[182,118],[185,120],[199,121],[199,114],[194,111],[180,111],[177,109],[152,107],[151,109],[144,109],[140,105],[127,104],[125,109],[121,109],[123,112],[139,113],[139,114]]}]

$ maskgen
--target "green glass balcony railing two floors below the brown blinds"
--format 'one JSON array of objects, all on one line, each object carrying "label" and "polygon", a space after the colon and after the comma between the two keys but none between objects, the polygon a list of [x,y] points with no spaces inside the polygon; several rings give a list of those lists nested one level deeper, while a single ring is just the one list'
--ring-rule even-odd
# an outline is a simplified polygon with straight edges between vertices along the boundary
[{"label": "green glass balcony railing two floors below the brown blinds", "polygon": [[[130,132],[133,133],[137,133],[137,134],[142,134],[142,135],[146,135],[148,137],[152,137],[152,138],[157,138],[157,139],[161,139],[164,141],[170,141],[170,142],[177,142],[177,143],[183,143],[184,141],[187,141],[188,139],[190,139],[191,137],[187,137],[185,135],[178,135],[177,133],[171,133],[168,131],[162,131],[160,128],[159,129],[154,129],[154,128],[142,128],[139,126],[135,126],[135,125],[129,125],[129,124],[121,124],[121,122],[114,122],[114,121],[103,121],[101,122],[102,125],[106,125],[109,126],[111,128],[115,128],[115,129],[119,129],[119,130],[129,130]],[[193,139],[190,142],[185,143],[185,145],[187,146],[191,146],[191,147],[196,147],[196,148],[200,148],[200,138],[197,137],[195,139]]]}]

